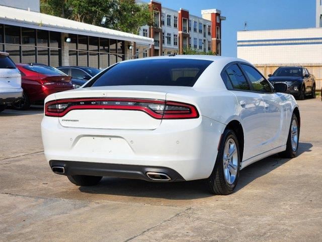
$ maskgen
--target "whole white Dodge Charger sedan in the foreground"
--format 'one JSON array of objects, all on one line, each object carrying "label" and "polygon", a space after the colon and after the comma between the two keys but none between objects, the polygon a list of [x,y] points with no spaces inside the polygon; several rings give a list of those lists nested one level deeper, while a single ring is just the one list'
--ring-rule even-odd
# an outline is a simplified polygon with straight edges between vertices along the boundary
[{"label": "whole white Dodge Charger sedan in the foreground", "polygon": [[177,55],[124,61],[49,95],[41,129],[52,171],[75,185],[206,178],[226,195],[240,169],[296,156],[300,115],[243,59]]}]

